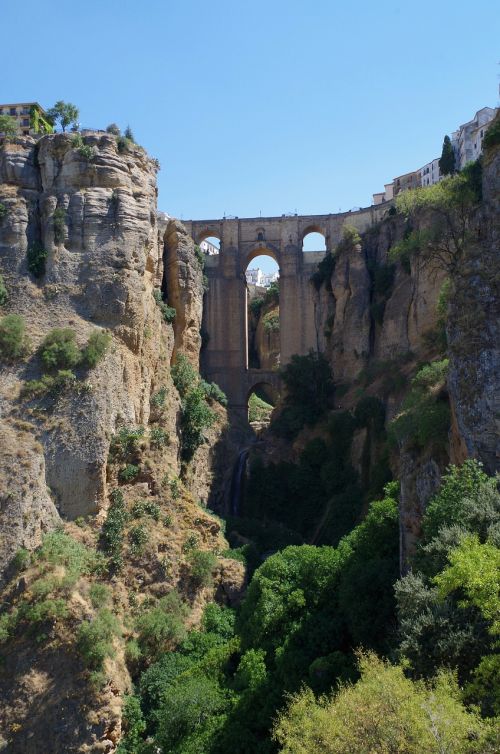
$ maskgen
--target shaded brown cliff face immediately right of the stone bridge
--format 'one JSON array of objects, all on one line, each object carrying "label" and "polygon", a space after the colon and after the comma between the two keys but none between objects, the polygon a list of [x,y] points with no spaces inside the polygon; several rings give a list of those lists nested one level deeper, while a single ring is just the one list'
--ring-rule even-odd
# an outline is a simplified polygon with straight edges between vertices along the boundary
[{"label": "shaded brown cliff face immediately right of the stone bridge", "polygon": [[[320,330],[338,382],[354,381],[373,360],[389,361],[408,352],[418,359],[428,352],[425,335],[436,326],[444,275],[414,264],[406,270],[393,265],[388,251],[402,235],[399,218],[388,218],[365,233],[362,244],[338,255],[330,296],[324,289],[318,293]],[[377,292],[382,274],[390,282]]]}]

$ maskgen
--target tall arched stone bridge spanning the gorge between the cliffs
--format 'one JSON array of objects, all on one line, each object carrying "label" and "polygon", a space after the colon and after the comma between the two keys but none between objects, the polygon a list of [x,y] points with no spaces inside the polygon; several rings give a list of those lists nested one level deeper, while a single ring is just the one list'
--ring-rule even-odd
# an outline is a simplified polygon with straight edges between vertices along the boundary
[{"label": "tall arched stone bridge spanning the gorge between the cliffs", "polygon": [[184,222],[195,243],[215,237],[219,254],[206,256],[208,291],[204,302],[203,329],[208,342],[202,352],[207,379],[217,382],[232,409],[246,413],[247,401],[259,384],[279,391],[279,375],[248,367],[247,287],[245,272],[259,255],[272,257],[280,270],[281,365],[293,354],[320,350],[323,335],[319,296],[311,275],[325,252],[302,250],[309,233],[321,233],[326,249],[335,247],[342,227],[364,231],[382,219],[386,205],[330,215],[282,215],[281,217],[224,218]]}]

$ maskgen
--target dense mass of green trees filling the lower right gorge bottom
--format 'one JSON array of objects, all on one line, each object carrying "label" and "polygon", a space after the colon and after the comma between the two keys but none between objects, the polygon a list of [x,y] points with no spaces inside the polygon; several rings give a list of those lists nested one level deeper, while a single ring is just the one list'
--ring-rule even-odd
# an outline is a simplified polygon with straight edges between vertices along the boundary
[{"label": "dense mass of green trees filling the lower right gorge bottom", "polygon": [[337,547],[277,552],[236,614],[209,604],[175,651],[155,645],[121,754],[493,754],[499,526],[497,481],[452,467],[398,579],[391,483]]}]

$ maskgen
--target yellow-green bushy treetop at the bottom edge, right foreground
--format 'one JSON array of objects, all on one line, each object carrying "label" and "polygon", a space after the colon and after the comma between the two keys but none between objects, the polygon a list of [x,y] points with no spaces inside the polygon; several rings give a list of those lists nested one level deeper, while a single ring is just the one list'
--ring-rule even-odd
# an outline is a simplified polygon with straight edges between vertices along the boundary
[{"label": "yellow-green bushy treetop at the bottom edge, right foreground", "polygon": [[309,689],[291,697],[274,731],[282,754],[493,752],[484,748],[488,725],[461,704],[450,673],[415,683],[373,654],[359,668],[361,679],[333,697],[317,702]]}]

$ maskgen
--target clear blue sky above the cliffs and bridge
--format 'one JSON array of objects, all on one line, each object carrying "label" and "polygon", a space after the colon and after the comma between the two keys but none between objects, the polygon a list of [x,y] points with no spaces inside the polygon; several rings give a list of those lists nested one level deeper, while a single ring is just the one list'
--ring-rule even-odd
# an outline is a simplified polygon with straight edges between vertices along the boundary
[{"label": "clear blue sky above the cliffs and bridge", "polygon": [[129,123],[184,219],[365,206],[498,104],[498,0],[2,6],[0,100]]}]

